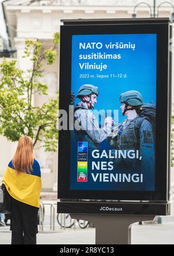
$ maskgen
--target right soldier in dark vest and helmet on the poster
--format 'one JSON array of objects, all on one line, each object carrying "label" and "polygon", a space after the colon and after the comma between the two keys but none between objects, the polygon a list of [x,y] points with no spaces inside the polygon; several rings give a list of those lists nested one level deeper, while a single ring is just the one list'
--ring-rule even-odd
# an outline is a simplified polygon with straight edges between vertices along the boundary
[{"label": "right soldier in dark vest and helmet on the poster", "polygon": [[126,116],[126,119],[118,125],[118,135],[108,138],[108,142],[118,150],[139,150],[139,156],[142,158],[122,157],[116,162],[123,170],[153,173],[153,130],[148,118],[141,116],[143,111],[142,95],[138,91],[126,91],[121,93],[119,102],[122,116]]}]

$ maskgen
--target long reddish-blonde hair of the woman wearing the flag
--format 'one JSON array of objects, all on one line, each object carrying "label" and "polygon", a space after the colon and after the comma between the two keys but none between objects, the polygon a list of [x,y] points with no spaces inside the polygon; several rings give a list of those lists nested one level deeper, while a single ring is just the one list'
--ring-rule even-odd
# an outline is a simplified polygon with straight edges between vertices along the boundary
[{"label": "long reddish-blonde hair of the woman wearing the flag", "polygon": [[33,163],[32,139],[26,135],[21,136],[12,160],[13,167],[18,172],[27,172],[30,174]]}]

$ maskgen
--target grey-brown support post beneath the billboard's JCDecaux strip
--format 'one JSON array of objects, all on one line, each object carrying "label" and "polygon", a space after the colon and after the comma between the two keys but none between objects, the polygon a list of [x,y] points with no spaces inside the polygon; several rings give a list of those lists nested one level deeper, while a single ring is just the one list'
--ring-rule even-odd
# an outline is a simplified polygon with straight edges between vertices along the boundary
[{"label": "grey-brown support post beneath the billboard's JCDecaux strip", "polygon": [[153,221],[155,215],[71,214],[73,219],[90,221],[96,228],[96,244],[131,244],[131,225]]}]

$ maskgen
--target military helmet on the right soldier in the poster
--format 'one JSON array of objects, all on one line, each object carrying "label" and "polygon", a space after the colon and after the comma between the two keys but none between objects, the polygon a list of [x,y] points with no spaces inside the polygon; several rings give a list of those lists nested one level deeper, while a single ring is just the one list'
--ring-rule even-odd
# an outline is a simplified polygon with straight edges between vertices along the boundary
[{"label": "military helmet on the right soldier in the poster", "polygon": [[143,105],[143,97],[138,91],[127,91],[121,93],[119,97],[119,102],[127,103],[130,106],[142,106]]}]

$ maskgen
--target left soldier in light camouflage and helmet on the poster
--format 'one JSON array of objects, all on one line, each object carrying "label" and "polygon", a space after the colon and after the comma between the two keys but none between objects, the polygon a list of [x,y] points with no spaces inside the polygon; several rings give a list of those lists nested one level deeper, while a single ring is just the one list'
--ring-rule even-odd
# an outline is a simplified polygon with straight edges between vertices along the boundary
[{"label": "left soldier in light camouflage and helmet on the poster", "polygon": [[99,90],[91,84],[79,88],[77,98],[80,102],[74,107],[75,136],[78,141],[88,142],[89,150],[99,149],[99,144],[111,133],[112,120],[107,117],[104,127],[99,128],[99,122],[92,110],[97,103]]}]

